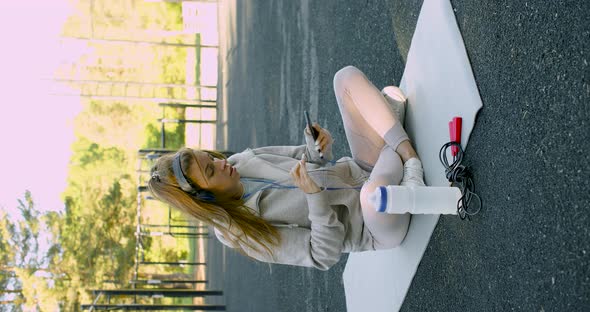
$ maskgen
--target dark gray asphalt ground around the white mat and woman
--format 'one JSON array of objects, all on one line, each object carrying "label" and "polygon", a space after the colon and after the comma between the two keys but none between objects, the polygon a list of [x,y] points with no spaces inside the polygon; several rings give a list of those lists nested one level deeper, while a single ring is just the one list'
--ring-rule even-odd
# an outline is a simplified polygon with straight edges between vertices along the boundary
[{"label": "dark gray asphalt ground around the white mat and woman", "polygon": [[[230,150],[301,144],[303,110],[349,155],[334,73],[398,84],[422,1],[224,1]],[[589,311],[588,1],[451,1],[483,108],[465,164],[484,209],[442,216],[402,311]],[[230,311],[345,311],[342,272],[212,246]],[[210,262],[211,263],[211,262]],[[214,266],[211,266],[212,272]],[[223,271],[223,274],[221,272]]]}]

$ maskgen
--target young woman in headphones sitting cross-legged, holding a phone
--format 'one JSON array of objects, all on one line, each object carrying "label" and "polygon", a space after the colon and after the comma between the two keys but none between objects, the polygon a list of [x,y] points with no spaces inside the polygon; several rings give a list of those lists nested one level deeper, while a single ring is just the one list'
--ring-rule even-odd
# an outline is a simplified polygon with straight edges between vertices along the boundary
[{"label": "young woman in headphones sitting cross-legged, holding a phone", "polygon": [[183,148],[158,159],[154,196],[215,228],[225,245],[265,262],[327,270],[343,252],[389,249],[410,214],[376,212],[368,195],[383,185],[423,186],[422,164],[403,127],[405,98],[381,93],[357,68],[334,90],[352,158],[332,160],[330,132],[314,142],[247,149],[225,158]]}]

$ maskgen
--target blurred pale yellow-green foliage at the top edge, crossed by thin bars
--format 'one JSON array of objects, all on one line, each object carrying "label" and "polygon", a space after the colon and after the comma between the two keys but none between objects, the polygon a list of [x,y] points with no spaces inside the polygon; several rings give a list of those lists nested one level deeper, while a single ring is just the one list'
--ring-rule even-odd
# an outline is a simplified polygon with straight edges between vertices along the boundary
[{"label": "blurred pale yellow-green foliage at the top edge, crossed by thin bars", "polygon": [[[92,3],[92,4],[91,4]],[[180,3],[142,0],[78,1],[75,14],[63,27],[68,37],[133,39],[151,42],[195,44],[196,36],[183,34]],[[132,36],[130,34],[133,34]],[[82,74],[83,79],[184,83],[186,49],[171,46],[145,47],[133,43],[89,44],[92,53],[63,65],[59,75]],[[80,77],[78,77],[80,78]],[[129,90],[141,93],[142,90]],[[176,97],[183,92],[166,90]],[[162,96],[158,92],[157,96]]]}]

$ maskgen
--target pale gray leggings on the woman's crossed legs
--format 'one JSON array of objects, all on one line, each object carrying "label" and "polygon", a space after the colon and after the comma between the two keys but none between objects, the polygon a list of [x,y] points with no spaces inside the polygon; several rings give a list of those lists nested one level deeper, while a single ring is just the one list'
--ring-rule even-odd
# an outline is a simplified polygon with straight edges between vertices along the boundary
[{"label": "pale gray leggings on the woman's crossed legs", "polygon": [[[361,168],[371,172],[361,190],[361,207],[365,226],[373,236],[373,247],[397,247],[408,232],[411,215],[376,212],[367,200],[367,196],[377,187],[399,185],[403,177],[400,156],[385,144],[383,137],[376,131],[377,127],[389,127],[384,122],[395,115],[382,93],[355,67],[348,66],[336,73],[334,93],[352,158]],[[390,115],[387,118],[374,117],[379,115],[373,112],[381,112],[381,116],[389,112]],[[375,120],[366,120],[363,116]]]}]

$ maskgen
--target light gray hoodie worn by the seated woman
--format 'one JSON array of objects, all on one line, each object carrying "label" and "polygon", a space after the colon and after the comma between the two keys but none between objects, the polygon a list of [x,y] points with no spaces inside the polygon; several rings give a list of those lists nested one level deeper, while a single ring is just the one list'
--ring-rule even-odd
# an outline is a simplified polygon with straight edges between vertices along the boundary
[{"label": "light gray hoodie worn by the seated woman", "polygon": [[[278,229],[281,244],[273,250],[272,257],[245,246],[243,249],[263,262],[327,270],[343,252],[374,250],[360,206],[359,187],[369,173],[349,157],[329,162],[331,146],[325,148],[325,157],[321,159],[313,138],[306,134],[305,140],[306,145],[247,149],[229,158],[241,177],[294,185],[289,172],[305,153],[310,177],[323,188],[314,194],[305,194],[298,188],[269,188],[250,196],[246,206]],[[223,244],[235,247],[217,229],[215,234]]]}]

